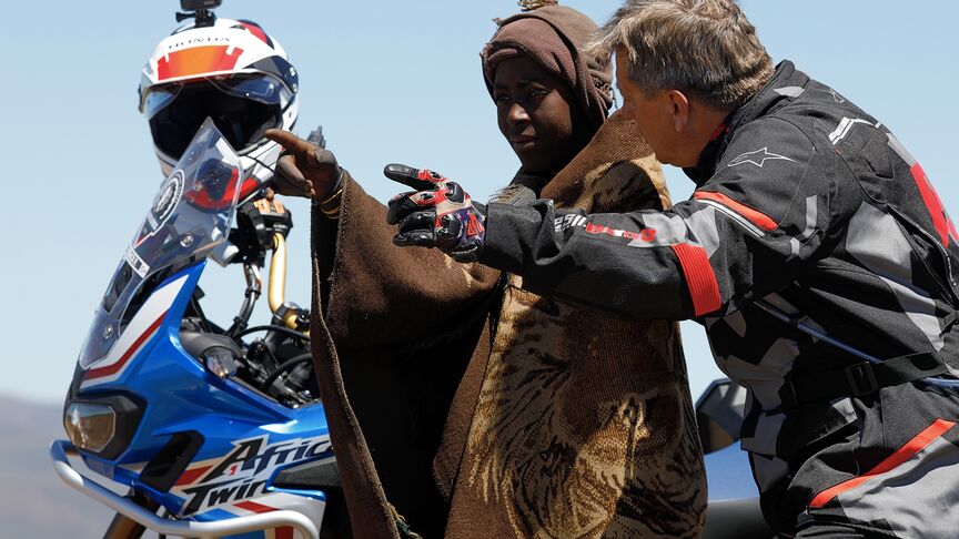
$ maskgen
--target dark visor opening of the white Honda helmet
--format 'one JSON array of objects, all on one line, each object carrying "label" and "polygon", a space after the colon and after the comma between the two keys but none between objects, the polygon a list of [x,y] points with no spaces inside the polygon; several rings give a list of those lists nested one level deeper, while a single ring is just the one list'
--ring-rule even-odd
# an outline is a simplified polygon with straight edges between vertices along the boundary
[{"label": "dark visor opening of the white Honda helmet", "polygon": [[229,95],[209,83],[185,84],[172,102],[150,118],[153,143],[179,160],[208,116],[230,145],[242,152],[262,140],[267,129],[279,128],[283,111],[279,103]]}]

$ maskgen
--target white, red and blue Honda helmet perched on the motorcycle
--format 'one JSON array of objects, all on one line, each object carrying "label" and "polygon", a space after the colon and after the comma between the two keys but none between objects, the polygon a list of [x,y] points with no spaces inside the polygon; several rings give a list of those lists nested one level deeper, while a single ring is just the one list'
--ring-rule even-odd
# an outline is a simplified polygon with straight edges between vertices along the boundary
[{"label": "white, red and blue Honda helmet perched on the motorcycle", "polygon": [[273,176],[280,145],[263,138],[296,123],[299,75],[286,52],[255,22],[189,23],[163,39],[140,82],[140,112],[150,122],[163,174],[170,174],[209,116],[240,154],[241,197]]}]

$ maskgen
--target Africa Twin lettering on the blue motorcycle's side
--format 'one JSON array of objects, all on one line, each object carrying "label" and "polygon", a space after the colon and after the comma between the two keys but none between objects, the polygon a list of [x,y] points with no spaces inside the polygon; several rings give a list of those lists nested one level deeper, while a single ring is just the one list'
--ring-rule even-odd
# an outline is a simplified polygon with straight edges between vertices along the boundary
[{"label": "Africa Twin lettering on the blue motorcycle's side", "polygon": [[266,444],[266,436],[235,441],[229,455],[212,464],[208,461],[204,466],[186,469],[176,481],[174,491],[186,498],[181,515],[261,496],[279,466],[332,457],[330,448],[329,436],[276,444]]}]

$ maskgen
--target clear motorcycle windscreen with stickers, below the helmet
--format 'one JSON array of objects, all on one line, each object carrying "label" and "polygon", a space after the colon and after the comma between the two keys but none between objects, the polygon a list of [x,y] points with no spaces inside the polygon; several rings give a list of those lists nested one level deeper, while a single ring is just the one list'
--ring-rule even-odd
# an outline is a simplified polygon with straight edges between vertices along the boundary
[{"label": "clear motorcycle windscreen with stickers, below the helmet", "polygon": [[226,241],[243,171],[240,157],[208,119],[160,186],[80,350],[80,367],[105,357],[152,289],[173,271]]}]

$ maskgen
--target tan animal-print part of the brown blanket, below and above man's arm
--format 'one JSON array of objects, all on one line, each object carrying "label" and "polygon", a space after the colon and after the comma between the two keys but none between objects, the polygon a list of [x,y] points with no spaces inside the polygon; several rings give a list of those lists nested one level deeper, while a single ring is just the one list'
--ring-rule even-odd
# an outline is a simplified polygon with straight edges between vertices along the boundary
[{"label": "tan animal-print part of the brown blanket, below and above man's arm", "polygon": [[[630,129],[609,124],[618,133],[594,146]],[[658,162],[637,151],[610,162],[587,149],[567,171],[588,170],[544,192],[592,212],[668,205]],[[677,326],[559,304],[511,275],[447,537],[697,537],[705,504]]]}]

